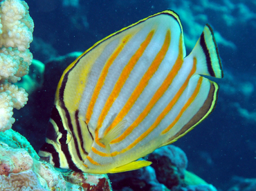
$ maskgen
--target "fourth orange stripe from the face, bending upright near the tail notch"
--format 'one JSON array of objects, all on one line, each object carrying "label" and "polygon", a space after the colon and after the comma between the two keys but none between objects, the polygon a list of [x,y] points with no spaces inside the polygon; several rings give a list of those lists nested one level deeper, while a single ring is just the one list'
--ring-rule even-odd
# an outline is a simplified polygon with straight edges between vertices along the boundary
[{"label": "fourth orange stripe from the face, bending upright near the tail notch", "polygon": [[145,117],[147,117],[147,114],[150,112],[150,110],[152,110],[152,108],[154,107],[156,102],[163,96],[165,91],[172,84],[172,81],[173,81],[174,77],[176,77],[176,74],[178,74],[179,70],[181,69],[182,64],[183,64],[183,38],[181,36],[179,39],[178,57],[176,59],[176,62],[174,63],[174,66],[172,67],[172,70],[169,72],[169,74],[165,78],[165,81],[163,81],[162,85],[158,88],[158,90],[154,94],[154,97],[152,97],[152,99],[149,101],[146,108],[143,110],[143,112],[140,113],[140,115],[134,121],[134,123],[132,123],[129,126],[129,128],[127,128],[127,130],[125,130],[125,132],[122,133],[122,135],[120,137],[111,141],[111,144],[118,143],[118,142],[122,141],[123,139],[125,139],[138,126],[138,124],[141,123],[141,121],[143,121],[143,119],[145,119]]}]

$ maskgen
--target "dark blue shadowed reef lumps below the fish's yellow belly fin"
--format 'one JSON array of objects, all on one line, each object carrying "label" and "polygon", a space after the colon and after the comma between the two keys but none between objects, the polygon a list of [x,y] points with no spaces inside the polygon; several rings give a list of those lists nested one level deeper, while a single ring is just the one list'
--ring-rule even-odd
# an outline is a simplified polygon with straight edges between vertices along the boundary
[{"label": "dark blue shadowed reef lumps below the fish's yellow belly fin", "polygon": [[217,191],[213,185],[185,170],[188,159],[174,145],[158,148],[148,159],[152,165],[139,170],[109,174],[113,190]]}]

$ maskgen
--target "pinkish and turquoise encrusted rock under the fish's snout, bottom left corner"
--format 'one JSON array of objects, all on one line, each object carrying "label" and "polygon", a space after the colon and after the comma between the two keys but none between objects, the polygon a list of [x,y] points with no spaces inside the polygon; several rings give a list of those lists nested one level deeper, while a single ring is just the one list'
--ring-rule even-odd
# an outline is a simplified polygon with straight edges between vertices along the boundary
[{"label": "pinkish and turquoise encrusted rock under the fish's snout, bottom left corner", "polygon": [[58,172],[38,159],[21,134],[0,132],[0,190],[111,190],[106,174]]}]

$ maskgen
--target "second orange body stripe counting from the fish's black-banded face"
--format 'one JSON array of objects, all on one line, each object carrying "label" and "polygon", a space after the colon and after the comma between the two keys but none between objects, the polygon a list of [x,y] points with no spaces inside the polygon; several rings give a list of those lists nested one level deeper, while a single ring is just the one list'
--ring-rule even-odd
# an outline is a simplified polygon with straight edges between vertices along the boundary
[{"label": "second orange body stripe counting from the fish's black-banded face", "polygon": [[[118,78],[118,81],[116,82],[115,87],[113,88],[111,94],[109,95],[109,98],[107,99],[104,108],[102,109],[102,112],[100,114],[99,120],[98,120],[98,127],[100,127],[104,121],[104,118],[106,117],[107,113],[109,112],[109,109],[111,108],[111,105],[118,97],[118,94],[120,93],[122,86],[124,86],[126,80],[129,77],[129,74],[131,73],[131,70],[133,70],[134,66],[136,65],[138,59],[143,55],[145,49],[147,48],[149,42],[151,41],[154,34],[154,30],[149,32],[147,34],[147,38],[143,43],[141,43],[140,48],[135,52],[135,54],[131,57],[125,68],[122,70],[122,73],[120,74],[120,77]],[[107,132],[109,132],[111,128],[108,128],[104,134],[106,135]]]}]

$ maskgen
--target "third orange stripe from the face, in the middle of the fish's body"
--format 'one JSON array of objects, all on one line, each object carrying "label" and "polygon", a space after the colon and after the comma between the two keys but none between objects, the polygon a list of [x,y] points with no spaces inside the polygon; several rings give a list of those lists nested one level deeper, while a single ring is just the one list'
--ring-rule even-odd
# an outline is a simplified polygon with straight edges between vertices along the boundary
[{"label": "third orange stripe from the face, in the middle of the fish's body", "polygon": [[107,128],[106,133],[109,132],[113,127],[115,127],[120,121],[122,121],[123,117],[129,112],[131,107],[134,105],[138,97],[140,97],[141,92],[143,92],[144,88],[147,86],[147,83],[152,78],[156,70],[158,70],[158,66],[161,64],[163,59],[165,58],[165,54],[170,46],[170,40],[171,40],[171,32],[170,30],[167,30],[165,35],[165,41],[163,43],[163,46],[161,50],[156,55],[154,61],[147,69],[147,72],[143,75],[142,79],[140,79],[140,82],[138,83],[138,86],[136,86],[134,92],[132,92],[131,96],[127,100],[127,103],[125,103],[122,110],[118,113],[116,119],[109,125],[109,128]]}]

